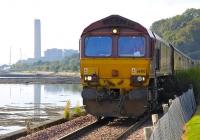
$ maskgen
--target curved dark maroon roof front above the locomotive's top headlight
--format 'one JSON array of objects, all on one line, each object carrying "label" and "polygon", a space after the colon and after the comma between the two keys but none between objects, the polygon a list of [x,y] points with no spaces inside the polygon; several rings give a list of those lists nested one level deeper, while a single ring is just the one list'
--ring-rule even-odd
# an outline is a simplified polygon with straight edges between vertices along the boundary
[{"label": "curved dark maroon roof front above the locomotive's top headlight", "polygon": [[149,34],[149,31],[141,24],[119,15],[111,15],[90,24],[88,27],[84,29],[82,35],[86,34],[87,32],[93,31],[95,29],[101,29],[105,27],[126,27],[130,29],[134,29],[138,32]]}]

